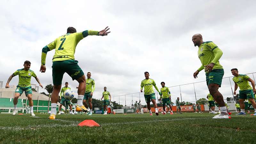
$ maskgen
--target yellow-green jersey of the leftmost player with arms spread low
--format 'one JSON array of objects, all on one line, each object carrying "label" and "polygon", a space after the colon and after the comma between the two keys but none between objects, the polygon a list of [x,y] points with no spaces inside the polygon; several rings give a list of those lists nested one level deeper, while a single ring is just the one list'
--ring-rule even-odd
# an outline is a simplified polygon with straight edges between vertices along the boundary
[{"label": "yellow-green jersey of the leftmost player with arms spread low", "polygon": [[31,87],[31,76],[36,77],[36,74],[34,71],[28,69],[28,71],[22,69],[18,69],[13,73],[14,76],[19,75],[19,84],[17,85],[18,87]]}]

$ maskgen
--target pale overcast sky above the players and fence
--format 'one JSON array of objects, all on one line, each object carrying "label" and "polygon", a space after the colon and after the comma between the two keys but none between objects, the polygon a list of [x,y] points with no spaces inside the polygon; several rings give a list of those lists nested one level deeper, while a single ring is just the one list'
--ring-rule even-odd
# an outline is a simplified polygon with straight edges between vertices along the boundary
[{"label": "pale overcast sky above the players and fence", "polygon": [[[101,98],[103,87],[112,96],[140,91],[144,72],[148,71],[158,88],[195,83],[205,80],[201,71],[197,79],[193,73],[201,66],[192,36],[203,35],[223,51],[220,64],[224,77],[232,76],[231,68],[241,74],[256,72],[255,1],[4,1],[0,2],[2,42],[0,81],[4,85],[17,69],[31,61],[45,86],[52,84],[52,56],[47,53],[46,73],[40,73],[42,48],[66,33],[70,26],[78,32],[102,30],[109,26],[108,36],[88,36],[76,47],[75,59],[84,73],[92,72],[96,89],[94,98]],[[256,76],[256,74],[254,74]],[[252,75],[249,75],[251,78]],[[255,77],[254,76],[254,77]],[[256,77],[255,77],[256,78]],[[76,81],[65,74],[65,82],[75,90]],[[231,79],[232,81],[232,79]],[[37,84],[34,78],[31,83]],[[233,82],[232,87],[234,87]],[[11,85],[18,84],[18,76]],[[233,88],[234,89],[234,88]],[[195,101],[193,84],[170,88],[172,101]],[[40,90],[40,92],[46,92]],[[208,94],[206,83],[195,84],[196,98]],[[223,79],[220,92],[232,97],[229,79]],[[112,98],[130,105],[143,93]]]}]

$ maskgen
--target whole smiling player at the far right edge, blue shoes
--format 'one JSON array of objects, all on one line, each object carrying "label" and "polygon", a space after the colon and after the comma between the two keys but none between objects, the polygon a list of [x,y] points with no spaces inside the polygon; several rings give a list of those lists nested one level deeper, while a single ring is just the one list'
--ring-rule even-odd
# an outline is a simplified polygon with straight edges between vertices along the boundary
[{"label": "whole smiling player at the far right edge, blue shoes", "polygon": [[[239,87],[239,104],[241,107],[241,112],[236,115],[246,115],[244,112],[244,100],[248,99],[252,103],[254,108],[254,116],[256,116],[256,103],[254,101],[254,93],[256,93],[254,81],[247,75],[238,74],[237,68],[232,68],[231,73],[234,76],[232,80],[235,82],[234,94],[236,95],[236,90]],[[251,85],[249,84],[251,82]],[[253,93],[254,92],[254,93]]]}]

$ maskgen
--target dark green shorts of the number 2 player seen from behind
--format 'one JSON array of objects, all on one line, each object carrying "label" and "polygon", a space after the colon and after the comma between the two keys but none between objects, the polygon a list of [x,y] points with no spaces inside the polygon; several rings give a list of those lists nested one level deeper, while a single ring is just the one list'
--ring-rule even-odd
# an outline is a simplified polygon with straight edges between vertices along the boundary
[{"label": "dark green shorts of the number 2 player seen from behind", "polygon": [[77,60],[63,60],[52,62],[52,80],[54,85],[60,85],[64,73],[66,72],[72,80],[78,79],[84,75],[82,69],[78,66]]}]

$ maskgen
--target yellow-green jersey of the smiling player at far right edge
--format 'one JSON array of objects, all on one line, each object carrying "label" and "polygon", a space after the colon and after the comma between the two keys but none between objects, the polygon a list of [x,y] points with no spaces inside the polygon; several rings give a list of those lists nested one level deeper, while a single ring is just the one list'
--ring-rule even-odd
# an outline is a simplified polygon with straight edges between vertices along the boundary
[{"label": "yellow-green jersey of the smiling player at far right edge", "polygon": [[234,76],[232,79],[233,81],[238,85],[240,91],[244,91],[244,90],[251,90],[252,87],[249,84],[249,79],[250,77],[247,75],[241,75],[239,74],[237,77]]}]

